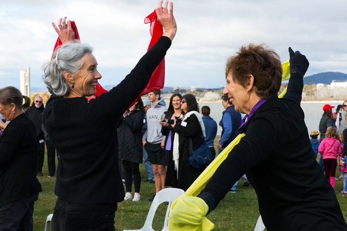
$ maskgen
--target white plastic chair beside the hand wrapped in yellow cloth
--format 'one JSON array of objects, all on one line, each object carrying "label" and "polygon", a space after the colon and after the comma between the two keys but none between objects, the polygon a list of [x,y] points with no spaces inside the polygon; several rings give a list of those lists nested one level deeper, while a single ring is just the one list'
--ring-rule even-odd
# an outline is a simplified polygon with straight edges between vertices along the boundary
[{"label": "white plastic chair beside the hand wrapped in yellow cloth", "polygon": [[163,202],[169,202],[168,209],[166,211],[164,226],[162,231],[169,231],[169,214],[170,208],[173,203],[184,191],[179,188],[165,188],[160,190],[157,195],[154,197],[151,208],[149,209],[145,224],[140,230],[124,230],[124,231],[154,231],[152,228],[152,222],[154,215],[158,206]]}]

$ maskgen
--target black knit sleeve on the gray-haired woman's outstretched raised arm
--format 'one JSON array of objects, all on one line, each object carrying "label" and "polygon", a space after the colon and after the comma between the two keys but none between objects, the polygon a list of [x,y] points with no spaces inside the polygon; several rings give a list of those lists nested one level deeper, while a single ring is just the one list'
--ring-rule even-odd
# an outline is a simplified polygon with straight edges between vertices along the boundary
[{"label": "black knit sleeve on the gray-haired woman's outstretched raised arm", "polygon": [[113,89],[89,101],[98,114],[118,118],[127,110],[147,85],[153,71],[163,60],[171,40],[162,36],[158,42],[138,61],[134,69]]}]

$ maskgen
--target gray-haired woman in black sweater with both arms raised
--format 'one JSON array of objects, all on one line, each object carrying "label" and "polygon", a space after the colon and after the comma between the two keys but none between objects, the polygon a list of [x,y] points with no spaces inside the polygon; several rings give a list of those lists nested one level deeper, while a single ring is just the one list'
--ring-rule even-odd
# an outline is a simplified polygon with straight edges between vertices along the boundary
[{"label": "gray-haired woman in black sweater with both arms raised", "polygon": [[[45,83],[54,93],[46,105],[44,126],[58,150],[58,200],[53,230],[115,230],[117,202],[124,198],[118,170],[116,125],[123,112],[144,89],[164,58],[176,32],[172,3],[156,9],[164,35],[139,60],[134,69],[110,92],[87,102],[101,78],[92,48],[63,44],[45,65]],[[65,18],[64,18],[65,19]],[[60,24],[61,20],[59,20]],[[70,38],[71,26],[56,27],[61,39]]]}]

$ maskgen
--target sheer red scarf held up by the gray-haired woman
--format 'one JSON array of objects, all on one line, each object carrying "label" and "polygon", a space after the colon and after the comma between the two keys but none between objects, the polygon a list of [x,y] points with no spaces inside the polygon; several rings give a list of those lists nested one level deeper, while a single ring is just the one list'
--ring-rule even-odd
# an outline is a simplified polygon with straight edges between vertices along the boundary
[{"label": "sheer red scarf held up by the gray-haired woman", "polygon": [[[150,15],[148,15],[145,18],[145,24],[146,23],[151,23],[150,26],[150,33],[152,36],[151,42],[149,43],[148,49],[147,51],[158,41],[158,39],[160,38],[160,36],[163,35],[163,26],[162,24],[159,22],[159,20],[157,19],[157,14],[155,11],[153,11],[153,13],[151,13]],[[80,39],[79,38],[79,34],[78,34],[78,30],[76,27],[76,24],[74,21],[71,21],[71,27],[73,29],[73,31],[75,32],[75,39]],[[58,37],[56,45],[54,46],[53,49],[53,54],[56,51],[56,49],[61,46],[62,43]],[[52,54],[52,58],[53,58],[53,54]],[[146,95],[152,91],[155,90],[159,90],[162,89],[164,87],[164,80],[165,80],[165,58],[163,58],[163,60],[160,62],[160,64],[158,65],[158,67],[154,70],[148,84],[146,85],[145,89],[143,89],[143,91],[141,92],[141,94],[137,97],[137,99],[129,106],[129,108],[138,101],[138,99],[143,96]],[[90,99],[93,99],[97,96],[100,96],[102,93],[107,92],[107,90],[105,90],[99,83],[96,85],[96,94],[94,96],[90,96],[90,97],[86,97],[88,99],[88,102]]]}]

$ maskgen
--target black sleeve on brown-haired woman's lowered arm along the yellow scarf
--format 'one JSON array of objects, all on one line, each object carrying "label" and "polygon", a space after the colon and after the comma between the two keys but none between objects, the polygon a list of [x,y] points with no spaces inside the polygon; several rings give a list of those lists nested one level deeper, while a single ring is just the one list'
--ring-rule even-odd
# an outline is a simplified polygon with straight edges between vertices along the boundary
[{"label": "black sleeve on brown-haired woman's lowered arm along the yellow scarf", "polygon": [[207,203],[209,211],[218,205],[247,170],[266,160],[276,144],[280,129],[266,117],[256,118],[249,124],[246,135],[234,146],[198,195]]}]

